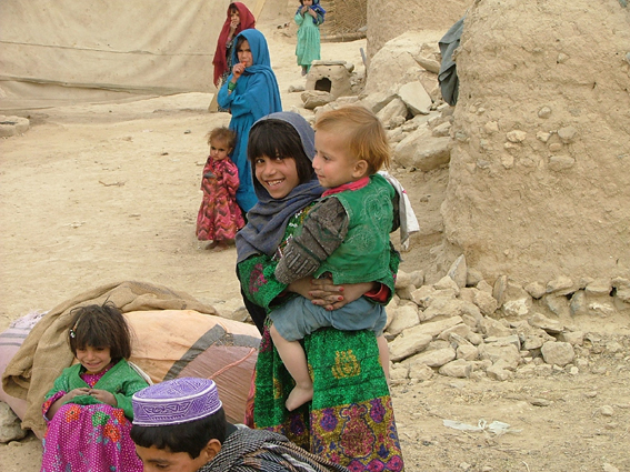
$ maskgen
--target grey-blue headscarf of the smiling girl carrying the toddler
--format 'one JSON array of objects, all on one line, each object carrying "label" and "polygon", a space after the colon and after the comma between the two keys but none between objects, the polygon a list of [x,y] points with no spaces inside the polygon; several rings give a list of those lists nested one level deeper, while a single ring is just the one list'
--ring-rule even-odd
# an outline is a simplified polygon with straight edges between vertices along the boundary
[{"label": "grey-blue headscarf of the smiling girl carrying the toddler", "polygon": [[[316,154],[314,131],[301,114],[292,111],[271,113],[253,123],[252,129],[267,120],[280,120],[293,127],[300,135],[304,153],[312,162]],[[252,254],[272,257],[282,242],[291,217],[323,192],[314,174],[309,182],[300,183],[283,199],[272,198],[256,178],[253,183],[258,203],[248,212],[246,227],[237,233],[237,263]]]}]

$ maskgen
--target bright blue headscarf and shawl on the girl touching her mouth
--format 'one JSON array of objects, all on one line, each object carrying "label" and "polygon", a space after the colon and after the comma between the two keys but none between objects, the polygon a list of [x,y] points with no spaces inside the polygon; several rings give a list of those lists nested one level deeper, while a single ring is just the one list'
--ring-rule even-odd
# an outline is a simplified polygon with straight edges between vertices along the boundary
[{"label": "bright blue headscarf and shawl on the girl touching her mouth", "polygon": [[[244,30],[237,36],[234,44],[238,44],[238,40],[241,37],[249,42],[253,60],[253,64],[244,70],[243,76],[259,73],[264,77],[263,82],[261,81],[253,84],[251,80],[248,82],[247,93],[251,99],[251,112],[254,120],[258,120],[268,114],[270,110],[282,110],[280,89],[278,88],[276,74],[271,69],[269,47],[267,46],[264,36],[258,30]],[[232,63],[239,63],[237,48],[234,48]]]}]

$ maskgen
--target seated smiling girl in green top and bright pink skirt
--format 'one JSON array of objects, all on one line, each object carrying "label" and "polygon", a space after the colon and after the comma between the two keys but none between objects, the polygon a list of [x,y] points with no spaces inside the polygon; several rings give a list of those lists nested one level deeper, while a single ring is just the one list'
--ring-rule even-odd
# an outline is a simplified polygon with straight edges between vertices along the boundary
[{"label": "seated smiling girl in green top and bright pink skirt", "polygon": [[79,363],[46,394],[41,472],[141,472],[129,435],[131,396],[148,383],[126,360],[127,322],[108,302],[77,308],[73,317],[68,341]]}]

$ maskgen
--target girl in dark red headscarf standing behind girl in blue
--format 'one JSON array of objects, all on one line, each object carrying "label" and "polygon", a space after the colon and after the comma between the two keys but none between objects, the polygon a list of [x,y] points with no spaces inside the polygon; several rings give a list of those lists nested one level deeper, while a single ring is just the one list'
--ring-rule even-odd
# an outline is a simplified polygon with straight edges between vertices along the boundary
[{"label": "girl in dark red headscarf standing behind girl in blue", "polygon": [[[236,1],[228,7],[228,17],[221,28],[221,33],[217,40],[217,51],[214,51],[213,83],[218,89],[226,83],[228,76],[232,71],[232,54],[234,50],[234,38],[242,30],[256,28],[256,18],[253,13],[241,2]],[[219,111],[228,111],[219,107]]]}]

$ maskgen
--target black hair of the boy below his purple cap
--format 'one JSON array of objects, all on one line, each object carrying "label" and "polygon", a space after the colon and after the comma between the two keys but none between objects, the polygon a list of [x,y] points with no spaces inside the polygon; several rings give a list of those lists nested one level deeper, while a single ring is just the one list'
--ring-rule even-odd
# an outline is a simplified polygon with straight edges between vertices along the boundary
[{"label": "black hair of the boy below his purple cap", "polygon": [[160,426],[131,426],[131,440],[141,448],[156,446],[170,452],[188,452],[197,459],[210,440],[226,441],[226,412],[221,408],[217,413],[200,420],[181,424],[167,424]]}]

